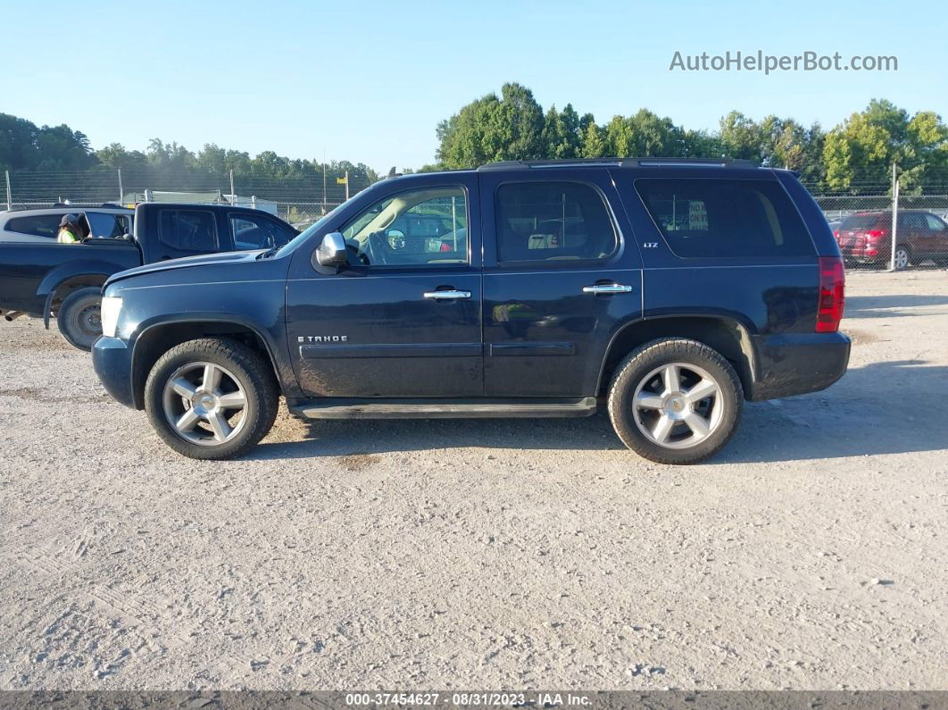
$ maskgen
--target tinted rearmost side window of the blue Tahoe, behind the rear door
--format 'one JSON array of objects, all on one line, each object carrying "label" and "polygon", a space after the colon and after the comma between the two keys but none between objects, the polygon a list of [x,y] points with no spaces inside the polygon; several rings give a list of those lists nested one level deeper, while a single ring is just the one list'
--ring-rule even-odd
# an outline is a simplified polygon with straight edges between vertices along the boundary
[{"label": "tinted rearmost side window of the blue Tahoe, behind the rear door", "polygon": [[682,257],[811,256],[810,234],[769,180],[638,179],[649,214]]}]

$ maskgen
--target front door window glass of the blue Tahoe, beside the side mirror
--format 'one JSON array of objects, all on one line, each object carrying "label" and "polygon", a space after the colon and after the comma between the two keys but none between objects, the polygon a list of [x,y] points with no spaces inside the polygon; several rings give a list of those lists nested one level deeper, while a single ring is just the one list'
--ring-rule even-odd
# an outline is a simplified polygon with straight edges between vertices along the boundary
[{"label": "front door window glass of the blue Tahoe, beside the side mirror", "polygon": [[460,187],[399,192],[340,229],[353,264],[468,264],[467,200]]}]

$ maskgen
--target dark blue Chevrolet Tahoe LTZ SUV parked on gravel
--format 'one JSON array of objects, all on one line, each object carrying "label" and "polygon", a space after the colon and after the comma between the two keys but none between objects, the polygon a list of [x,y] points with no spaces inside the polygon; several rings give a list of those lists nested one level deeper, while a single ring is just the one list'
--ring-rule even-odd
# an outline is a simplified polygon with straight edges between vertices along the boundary
[{"label": "dark blue Chevrolet Tahoe LTZ SUV parked on gravel", "polygon": [[846,372],[843,265],[794,173],[657,158],[376,183],[277,249],[104,287],[95,367],[175,451],[245,453],[308,418],[608,408],[652,461],[714,454],[743,400]]}]

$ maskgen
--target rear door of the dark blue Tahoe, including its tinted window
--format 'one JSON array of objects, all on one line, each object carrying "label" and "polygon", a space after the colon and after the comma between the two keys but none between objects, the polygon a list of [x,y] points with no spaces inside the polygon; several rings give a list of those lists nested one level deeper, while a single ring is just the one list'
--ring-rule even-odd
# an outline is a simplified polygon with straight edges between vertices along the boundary
[{"label": "rear door of the dark blue Tahoe, including its tinted window", "polygon": [[602,168],[480,173],[484,393],[593,396],[642,312],[641,261]]}]

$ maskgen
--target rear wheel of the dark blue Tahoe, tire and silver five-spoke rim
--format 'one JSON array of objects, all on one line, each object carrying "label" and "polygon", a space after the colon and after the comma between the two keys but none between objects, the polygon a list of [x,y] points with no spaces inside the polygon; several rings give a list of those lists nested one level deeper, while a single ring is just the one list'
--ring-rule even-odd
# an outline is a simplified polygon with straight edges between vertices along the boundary
[{"label": "rear wheel of the dark blue Tahoe, tire and silver five-spoke rim", "polygon": [[682,337],[633,351],[616,369],[609,392],[615,433],[659,464],[696,464],[716,454],[734,435],[742,405],[731,364]]}]

